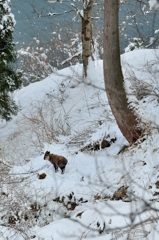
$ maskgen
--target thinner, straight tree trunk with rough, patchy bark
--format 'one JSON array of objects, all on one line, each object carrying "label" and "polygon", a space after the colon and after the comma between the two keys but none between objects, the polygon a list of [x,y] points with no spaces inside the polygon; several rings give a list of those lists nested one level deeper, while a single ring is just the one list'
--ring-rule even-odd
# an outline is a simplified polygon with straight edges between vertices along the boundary
[{"label": "thinner, straight tree trunk with rough, patchy bark", "polygon": [[88,58],[92,57],[92,8],[94,0],[83,0],[82,16],[82,59],[84,77],[87,76]]}]

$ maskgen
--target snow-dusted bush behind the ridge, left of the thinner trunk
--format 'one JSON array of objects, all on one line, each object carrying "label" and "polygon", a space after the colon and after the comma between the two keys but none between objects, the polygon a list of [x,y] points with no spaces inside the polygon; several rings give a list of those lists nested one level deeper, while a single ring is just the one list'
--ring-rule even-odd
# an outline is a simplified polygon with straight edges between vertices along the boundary
[{"label": "snow-dusted bush behind the ridge, left of the thinner trunk", "polygon": [[63,33],[61,38],[61,30],[57,27],[50,40],[41,41],[34,37],[29,46],[20,47],[18,58],[23,73],[23,85],[40,81],[57,69],[79,62],[79,38],[79,33],[73,33],[71,29],[68,29],[65,35]]}]

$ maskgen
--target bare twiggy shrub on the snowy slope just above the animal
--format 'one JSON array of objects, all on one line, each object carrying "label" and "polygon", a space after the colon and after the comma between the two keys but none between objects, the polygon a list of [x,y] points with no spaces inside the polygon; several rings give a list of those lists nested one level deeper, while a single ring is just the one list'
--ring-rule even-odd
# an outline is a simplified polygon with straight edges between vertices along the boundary
[{"label": "bare twiggy shrub on the snowy slope just above the animal", "polygon": [[47,96],[42,102],[35,101],[31,106],[30,113],[23,114],[18,123],[31,135],[30,141],[37,149],[42,150],[45,142],[57,142],[59,134],[69,133],[67,114],[63,118],[56,113],[53,96]]}]

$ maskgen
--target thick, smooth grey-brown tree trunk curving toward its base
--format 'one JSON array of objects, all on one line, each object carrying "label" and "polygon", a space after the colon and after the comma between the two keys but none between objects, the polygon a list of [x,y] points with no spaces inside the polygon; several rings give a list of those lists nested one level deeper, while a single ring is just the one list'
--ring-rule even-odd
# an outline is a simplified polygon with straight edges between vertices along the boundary
[{"label": "thick, smooth grey-brown tree trunk curving toward its base", "polygon": [[137,118],[128,107],[120,63],[118,0],[104,2],[104,81],[109,105],[116,122],[129,143],[140,137]]}]

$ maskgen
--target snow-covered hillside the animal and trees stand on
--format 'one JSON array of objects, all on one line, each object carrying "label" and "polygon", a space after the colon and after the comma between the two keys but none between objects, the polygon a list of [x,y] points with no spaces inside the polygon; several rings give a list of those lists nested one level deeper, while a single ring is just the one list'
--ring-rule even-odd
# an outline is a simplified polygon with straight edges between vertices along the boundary
[{"label": "snow-covered hillside the animal and trees stand on", "polygon": [[[27,215],[36,240],[159,239],[159,51],[136,50],[121,60],[130,105],[147,128],[123,153],[129,144],[107,102],[102,61],[90,62],[85,81],[76,65],[17,91],[21,110],[0,124],[1,161],[20,180],[3,191],[12,205],[18,189],[18,216]],[[64,175],[43,160],[46,150],[68,159]],[[126,196],[113,198],[122,186]]]}]

